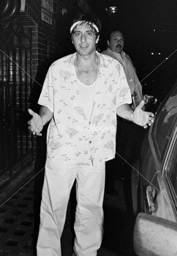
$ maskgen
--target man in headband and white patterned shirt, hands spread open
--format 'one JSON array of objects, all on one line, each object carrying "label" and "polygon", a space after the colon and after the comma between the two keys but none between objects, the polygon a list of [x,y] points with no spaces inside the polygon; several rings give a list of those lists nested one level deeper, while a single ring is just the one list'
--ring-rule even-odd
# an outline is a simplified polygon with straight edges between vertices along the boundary
[{"label": "man in headband and white patterned shirt, hands spread open", "polygon": [[46,76],[38,103],[39,115],[29,130],[47,134],[47,160],[41,202],[38,256],[61,256],[60,238],[69,194],[76,179],[76,218],[73,255],[96,256],[103,236],[105,161],[115,155],[116,112],[144,128],[153,114],[133,110],[121,65],[99,54],[95,44],[101,24],[94,14],[72,21],[76,53],[55,61]]}]

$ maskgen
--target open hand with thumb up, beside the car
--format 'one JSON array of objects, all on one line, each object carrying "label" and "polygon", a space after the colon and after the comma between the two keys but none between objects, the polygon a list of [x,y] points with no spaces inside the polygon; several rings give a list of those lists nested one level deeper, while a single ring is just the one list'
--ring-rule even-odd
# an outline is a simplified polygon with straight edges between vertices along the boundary
[{"label": "open hand with thumb up, beside the car", "polygon": [[154,114],[152,112],[146,112],[142,110],[144,106],[144,100],[140,102],[140,104],[135,108],[133,112],[134,123],[144,128],[147,128],[154,122]]}]

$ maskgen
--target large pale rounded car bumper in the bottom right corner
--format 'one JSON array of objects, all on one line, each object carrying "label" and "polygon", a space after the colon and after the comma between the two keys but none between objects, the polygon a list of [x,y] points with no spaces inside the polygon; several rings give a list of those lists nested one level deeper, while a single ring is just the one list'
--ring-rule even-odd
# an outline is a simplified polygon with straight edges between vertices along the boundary
[{"label": "large pale rounded car bumper in the bottom right corner", "polygon": [[141,256],[176,256],[177,224],[139,213],[134,227],[134,251]]}]

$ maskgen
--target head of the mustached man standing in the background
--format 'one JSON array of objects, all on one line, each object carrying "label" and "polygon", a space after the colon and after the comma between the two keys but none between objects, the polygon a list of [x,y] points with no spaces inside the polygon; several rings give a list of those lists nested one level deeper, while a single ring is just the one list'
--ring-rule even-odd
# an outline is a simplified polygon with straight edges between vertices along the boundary
[{"label": "head of the mustached man standing in the background", "polygon": [[124,48],[124,37],[119,31],[111,33],[110,41],[107,41],[108,47],[111,51],[120,53]]}]

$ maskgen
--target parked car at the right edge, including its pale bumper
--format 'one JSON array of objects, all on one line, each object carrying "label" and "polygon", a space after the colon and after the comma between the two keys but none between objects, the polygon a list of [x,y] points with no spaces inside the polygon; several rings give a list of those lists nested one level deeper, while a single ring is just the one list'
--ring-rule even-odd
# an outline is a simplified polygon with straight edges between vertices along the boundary
[{"label": "parked car at the right edge, including its pale bumper", "polygon": [[134,251],[177,255],[177,83],[160,104],[132,168]]}]

